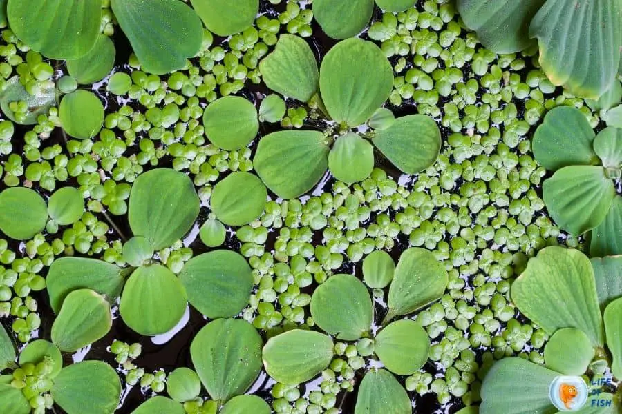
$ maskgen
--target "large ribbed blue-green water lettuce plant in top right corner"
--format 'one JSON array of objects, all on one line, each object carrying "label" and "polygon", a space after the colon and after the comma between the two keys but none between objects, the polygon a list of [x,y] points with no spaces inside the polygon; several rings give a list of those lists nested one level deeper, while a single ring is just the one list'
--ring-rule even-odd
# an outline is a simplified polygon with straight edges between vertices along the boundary
[{"label": "large ribbed blue-green water lettuce plant in top right corner", "polygon": [[537,39],[549,80],[580,97],[598,99],[621,68],[617,0],[458,0],[458,11],[493,52],[519,52]]}]

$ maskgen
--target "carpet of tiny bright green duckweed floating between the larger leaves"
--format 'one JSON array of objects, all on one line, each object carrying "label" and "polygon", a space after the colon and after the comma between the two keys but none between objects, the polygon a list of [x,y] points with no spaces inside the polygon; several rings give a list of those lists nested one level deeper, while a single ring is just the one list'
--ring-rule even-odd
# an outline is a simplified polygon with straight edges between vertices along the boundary
[{"label": "carpet of tiny bright green duckweed floating between the larger leaves", "polygon": [[[111,36],[114,21],[109,2],[103,3],[102,32]],[[55,257],[95,256],[126,265],[126,235],[117,216],[127,213],[131,185],[142,172],[168,164],[187,173],[207,217],[213,186],[229,172],[253,170],[252,148],[216,148],[206,140],[200,119],[218,97],[263,98],[256,92],[258,61],[280,33],[312,36],[313,16],[305,1],[303,6],[292,0],[270,3],[281,4],[262,6],[265,13],[241,34],[220,39],[206,30],[200,55],[171,75],[148,75],[130,57],[129,73],[115,72],[93,86],[108,101],[104,128],[94,139],[55,135],[57,108],[39,114],[32,127],[0,121],[2,186],[39,188],[48,195],[71,183],[86,201],[86,212],[73,225],[50,221],[44,233],[19,245],[0,239],[0,317],[8,318],[20,342],[39,335],[37,293],[46,287],[46,270]],[[565,235],[545,211],[540,185],[546,172],[534,160],[529,137],[554,106],[579,108],[592,126],[599,117],[582,99],[552,86],[538,68],[537,50],[498,56],[480,46],[450,1],[422,1],[406,12],[378,15],[364,37],[378,43],[393,64],[390,105],[398,112],[431,115],[442,126],[441,155],[415,176],[375,168],[371,177],[350,186],[327,177],[312,195],[272,199],[256,221],[228,228],[227,244],[247,257],[254,277],[242,317],[266,337],[312,327],[313,286],[334,273],[358,275],[361,261],[375,250],[397,257],[408,246],[427,248],[449,272],[449,287],[440,302],[415,316],[432,340],[430,361],[401,381],[415,401],[432,393],[438,404],[469,406],[480,401],[493,360],[518,355],[543,364],[547,335],[526,322],[509,298],[527,259],[545,246],[583,248],[581,238]],[[0,88],[19,75],[35,95],[64,79],[62,69],[28,50],[10,29],[1,39]],[[64,89],[75,89],[67,82]],[[286,103],[282,119],[275,119],[283,128],[301,128],[317,118],[316,108]],[[9,108],[16,121],[26,117],[23,101]],[[197,246],[189,237],[156,257],[179,273]],[[377,308],[385,306],[386,292],[375,289],[374,299]],[[271,386],[274,411],[345,412],[340,409],[357,386],[357,373],[377,364],[369,341],[338,342],[330,367],[312,384]],[[114,339],[110,351],[127,386],[138,384],[146,395],[164,392],[165,371],[139,368],[140,344]],[[30,386],[46,369],[31,365],[14,371],[18,388]],[[52,405],[45,388],[39,391],[29,398],[35,413]],[[184,407],[187,413],[216,413],[215,404],[201,398]]]}]

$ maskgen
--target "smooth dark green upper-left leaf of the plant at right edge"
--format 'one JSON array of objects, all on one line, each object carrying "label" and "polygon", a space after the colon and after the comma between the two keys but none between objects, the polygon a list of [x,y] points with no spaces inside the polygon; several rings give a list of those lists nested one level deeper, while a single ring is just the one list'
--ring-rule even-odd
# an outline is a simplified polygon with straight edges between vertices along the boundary
[{"label": "smooth dark green upper-left leaf of the plant at right edge", "polygon": [[594,131],[580,110],[558,106],[550,110],[534,135],[533,149],[538,164],[547,170],[575,165],[599,164],[592,150]]}]

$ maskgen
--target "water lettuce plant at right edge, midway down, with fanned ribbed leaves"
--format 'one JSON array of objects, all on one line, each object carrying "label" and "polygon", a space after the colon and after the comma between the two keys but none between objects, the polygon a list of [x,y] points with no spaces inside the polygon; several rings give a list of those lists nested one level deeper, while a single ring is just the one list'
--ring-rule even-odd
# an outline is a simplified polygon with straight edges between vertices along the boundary
[{"label": "water lettuce plant at right edge, midway down, with fanned ribbed leaves", "polygon": [[572,235],[591,232],[592,256],[622,254],[622,129],[597,135],[576,108],[554,108],[533,141],[538,163],[554,171],[543,184],[551,217]]}]

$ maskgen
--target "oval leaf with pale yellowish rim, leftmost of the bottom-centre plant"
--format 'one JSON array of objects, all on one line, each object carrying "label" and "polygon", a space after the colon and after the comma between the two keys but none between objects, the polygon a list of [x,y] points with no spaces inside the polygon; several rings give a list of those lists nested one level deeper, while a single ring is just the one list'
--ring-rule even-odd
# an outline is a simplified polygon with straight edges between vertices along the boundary
[{"label": "oval leaf with pale yellowish rim, leftmost of the bottom-centre plant", "polygon": [[323,333],[294,329],[268,339],[263,347],[263,366],[278,382],[301,384],[328,367],[333,346],[332,339]]}]

